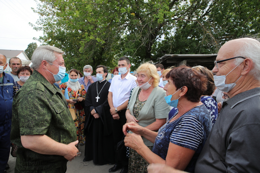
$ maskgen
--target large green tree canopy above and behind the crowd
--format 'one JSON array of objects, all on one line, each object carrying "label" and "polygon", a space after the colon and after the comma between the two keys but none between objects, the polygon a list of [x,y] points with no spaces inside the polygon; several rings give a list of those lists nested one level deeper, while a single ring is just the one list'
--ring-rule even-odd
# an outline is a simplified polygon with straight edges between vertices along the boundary
[{"label": "large green tree canopy above and behind the crowd", "polygon": [[66,66],[136,69],[164,54],[217,53],[228,39],[259,32],[259,0],[40,0],[38,40],[66,52]]}]

